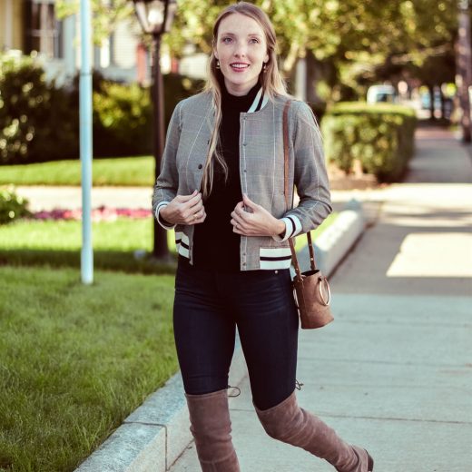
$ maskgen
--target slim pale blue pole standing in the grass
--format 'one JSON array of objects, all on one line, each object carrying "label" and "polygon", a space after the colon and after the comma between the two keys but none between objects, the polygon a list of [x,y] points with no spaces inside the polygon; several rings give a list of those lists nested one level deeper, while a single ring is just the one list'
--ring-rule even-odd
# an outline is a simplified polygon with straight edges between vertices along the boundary
[{"label": "slim pale blue pole standing in the grass", "polygon": [[85,284],[93,283],[92,246],[92,69],[90,0],[81,0],[81,71],[80,71],[80,160],[82,166],[82,251],[81,276]]}]

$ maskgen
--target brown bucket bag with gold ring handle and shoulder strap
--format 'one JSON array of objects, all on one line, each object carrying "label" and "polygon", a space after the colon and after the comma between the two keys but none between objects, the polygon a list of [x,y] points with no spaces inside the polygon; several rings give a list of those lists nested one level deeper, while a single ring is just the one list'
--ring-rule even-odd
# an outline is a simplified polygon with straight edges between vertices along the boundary
[{"label": "brown bucket bag with gold ring handle and shoulder strap", "polygon": [[[285,103],[283,109],[284,194],[287,210],[293,206],[293,188],[290,192],[289,185],[289,108],[290,100]],[[314,329],[321,328],[334,319],[329,309],[331,300],[329,282],[316,267],[315,251],[313,250],[310,231],[307,232],[307,240],[310,252],[310,270],[301,272],[293,239],[289,238],[291,261],[295,269],[295,277],[292,283],[295,304],[300,314],[301,328]]]}]

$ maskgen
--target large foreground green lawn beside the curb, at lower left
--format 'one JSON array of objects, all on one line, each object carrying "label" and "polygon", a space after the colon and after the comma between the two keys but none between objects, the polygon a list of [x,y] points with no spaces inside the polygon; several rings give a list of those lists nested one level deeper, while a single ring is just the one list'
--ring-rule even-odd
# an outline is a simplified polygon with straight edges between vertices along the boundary
[{"label": "large foreground green lawn beside the curb, at lower left", "polygon": [[172,276],[0,267],[0,470],[72,471],[178,369]]}]

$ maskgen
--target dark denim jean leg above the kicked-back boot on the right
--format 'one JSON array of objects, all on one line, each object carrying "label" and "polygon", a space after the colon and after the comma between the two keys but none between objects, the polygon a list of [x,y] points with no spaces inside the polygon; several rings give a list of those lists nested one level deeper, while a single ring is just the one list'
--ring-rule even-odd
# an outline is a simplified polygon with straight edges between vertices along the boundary
[{"label": "dark denim jean leg above the kicked-back boot on the right", "polygon": [[295,389],[299,317],[289,270],[242,272],[228,300],[235,307],[252,398],[271,408]]}]

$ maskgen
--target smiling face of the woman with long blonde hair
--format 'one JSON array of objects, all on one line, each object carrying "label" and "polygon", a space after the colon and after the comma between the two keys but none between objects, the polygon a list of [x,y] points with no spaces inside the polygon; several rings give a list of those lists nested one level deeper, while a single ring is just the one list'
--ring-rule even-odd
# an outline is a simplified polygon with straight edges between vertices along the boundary
[{"label": "smiling face of the woman with long blonde hair", "polygon": [[233,13],[221,20],[214,49],[228,92],[245,95],[269,61],[264,31],[249,16]]}]

